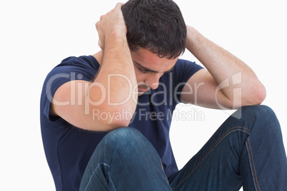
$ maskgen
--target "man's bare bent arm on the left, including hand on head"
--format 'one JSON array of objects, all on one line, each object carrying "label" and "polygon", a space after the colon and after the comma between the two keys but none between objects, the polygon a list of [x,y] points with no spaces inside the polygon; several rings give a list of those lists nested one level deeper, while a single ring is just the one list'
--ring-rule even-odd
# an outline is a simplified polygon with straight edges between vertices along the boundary
[{"label": "man's bare bent arm on the left, including hand on head", "polygon": [[[54,100],[60,102],[80,100],[81,104],[74,105],[51,104],[52,115],[59,115],[76,127],[99,131],[126,127],[136,110],[136,76],[121,6],[117,4],[96,23],[102,61],[94,82],[70,81],[54,94]],[[76,85],[74,91],[71,83]]]}]

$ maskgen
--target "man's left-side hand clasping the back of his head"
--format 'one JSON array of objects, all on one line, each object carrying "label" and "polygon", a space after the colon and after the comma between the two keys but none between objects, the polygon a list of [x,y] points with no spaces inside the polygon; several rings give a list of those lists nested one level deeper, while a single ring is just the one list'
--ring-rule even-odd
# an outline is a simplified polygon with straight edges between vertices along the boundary
[{"label": "man's left-side hand clasping the back of his head", "polygon": [[116,4],[115,8],[107,14],[102,15],[100,21],[96,23],[96,30],[99,33],[99,46],[104,50],[106,37],[113,34],[116,36],[126,36],[127,29],[124,21],[123,13],[121,12],[123,4]]}]

